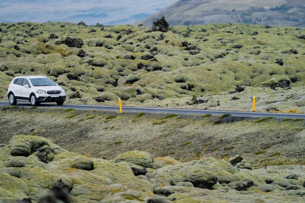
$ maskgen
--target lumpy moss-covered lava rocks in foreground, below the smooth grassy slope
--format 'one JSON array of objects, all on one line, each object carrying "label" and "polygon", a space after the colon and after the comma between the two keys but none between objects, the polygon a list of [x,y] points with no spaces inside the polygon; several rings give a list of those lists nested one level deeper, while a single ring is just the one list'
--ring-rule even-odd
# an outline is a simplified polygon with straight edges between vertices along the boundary
[{"label": "lumpy moss-covered lava rocks in foreground, below the smooth grassy slope", "polygon": [[[25,112],[11,111],[9,117]],[[73,135],[68,132],[60,140]],[[18,134],[0,143],[0,202],[302,202],[305,195],[300,165],[253,168],[241,156],[209,155],[179,162],[144,151],[105,160],[33,135]]]}]

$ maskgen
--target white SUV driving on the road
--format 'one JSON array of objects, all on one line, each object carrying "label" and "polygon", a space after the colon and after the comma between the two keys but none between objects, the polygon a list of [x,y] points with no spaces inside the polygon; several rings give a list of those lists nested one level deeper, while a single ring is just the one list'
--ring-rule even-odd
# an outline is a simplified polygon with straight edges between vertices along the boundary
[{"label": "white SUV driving on the road", "polygon": [[63,88],[45,76],[20,76],[9,84],[8,98],[11,105],[16,105],[17,99],[30,101],[32,106],[45,102],[63,105],[66,93]]}]

